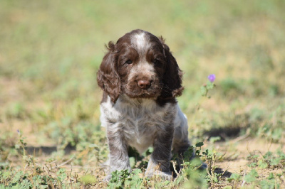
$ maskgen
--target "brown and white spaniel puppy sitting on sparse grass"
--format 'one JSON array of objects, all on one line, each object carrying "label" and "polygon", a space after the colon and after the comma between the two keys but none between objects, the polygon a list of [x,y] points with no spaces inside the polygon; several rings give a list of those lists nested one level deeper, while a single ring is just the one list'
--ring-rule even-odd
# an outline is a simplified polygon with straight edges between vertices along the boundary
[{"label": "brown and white spaniel puppy sitting on sparse grass", "polygon": [[171,151],[182,157],[190,146],[187,119],[175,99],[182,95],[182,71],[163,38],[147,31],[126,33],[107,48],[97,81],[110,171],[131,171],[129,146],[139,153],[153,146],[146,175],[171,179]]}]

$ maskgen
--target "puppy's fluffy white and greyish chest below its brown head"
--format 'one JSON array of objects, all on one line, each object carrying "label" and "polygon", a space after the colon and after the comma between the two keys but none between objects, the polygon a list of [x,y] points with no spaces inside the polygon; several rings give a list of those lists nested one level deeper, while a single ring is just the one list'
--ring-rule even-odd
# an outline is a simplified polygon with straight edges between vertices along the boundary
[{"label": "puppy's fluffy white and greyish chest below its brown head", "polygon": [[101,104],[101,122],[113,131],[118,130],[128,145],[143,153],[152,146],[157,132],[172,124],[176,105],[160,107],[152,99],[129,99],[120,97],[115,104],[110,100]]}]

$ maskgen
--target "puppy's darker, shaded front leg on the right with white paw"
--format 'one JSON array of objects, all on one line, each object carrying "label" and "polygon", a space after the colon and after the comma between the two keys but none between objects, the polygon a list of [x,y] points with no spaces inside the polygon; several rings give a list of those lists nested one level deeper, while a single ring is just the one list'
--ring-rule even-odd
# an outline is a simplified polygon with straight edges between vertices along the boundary
[{"label": "puppy's darker, shaded front leg on the right with white paw", "polygon": [[153,141],[153,152],[145,172],[147,177],[160,175],[167,180],[172,179],[170,159],[173,131],[173,126],[167,126],[163,131],[157,132],[157,136]]}]

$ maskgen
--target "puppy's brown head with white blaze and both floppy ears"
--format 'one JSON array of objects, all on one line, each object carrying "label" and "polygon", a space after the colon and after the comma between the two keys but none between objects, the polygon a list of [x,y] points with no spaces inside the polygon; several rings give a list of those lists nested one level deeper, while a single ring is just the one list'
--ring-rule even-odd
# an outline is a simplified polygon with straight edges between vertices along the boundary
[{"label": "puppy's brown head with white blaze and both floppy ears", "polygon": [[182,94],[182,72],[163,38],[134,30],[108,43],[97,73],[98,85],[115,101],[131,98],[172,99]]}]

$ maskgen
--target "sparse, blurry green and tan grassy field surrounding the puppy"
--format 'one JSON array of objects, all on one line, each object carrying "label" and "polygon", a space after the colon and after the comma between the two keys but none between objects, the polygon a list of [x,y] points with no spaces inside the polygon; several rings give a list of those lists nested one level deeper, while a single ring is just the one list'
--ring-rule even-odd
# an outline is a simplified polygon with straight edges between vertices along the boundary
[{"label": "sparse, blurry green and tan grassy field surrounding the puppy", "polygon": [[[284,6],[1,1],[0,188],[284,188]],[[143,178],[145,153],[131,157],[133,173],[102,182],[108,146],[95,73],[104,44],[135,28],[166,38],[185,72],[178,101],[193,144],[204,143],[204,172],[185,162],[174,181]],[[212,73],[216,87],[202,97]]]}]

